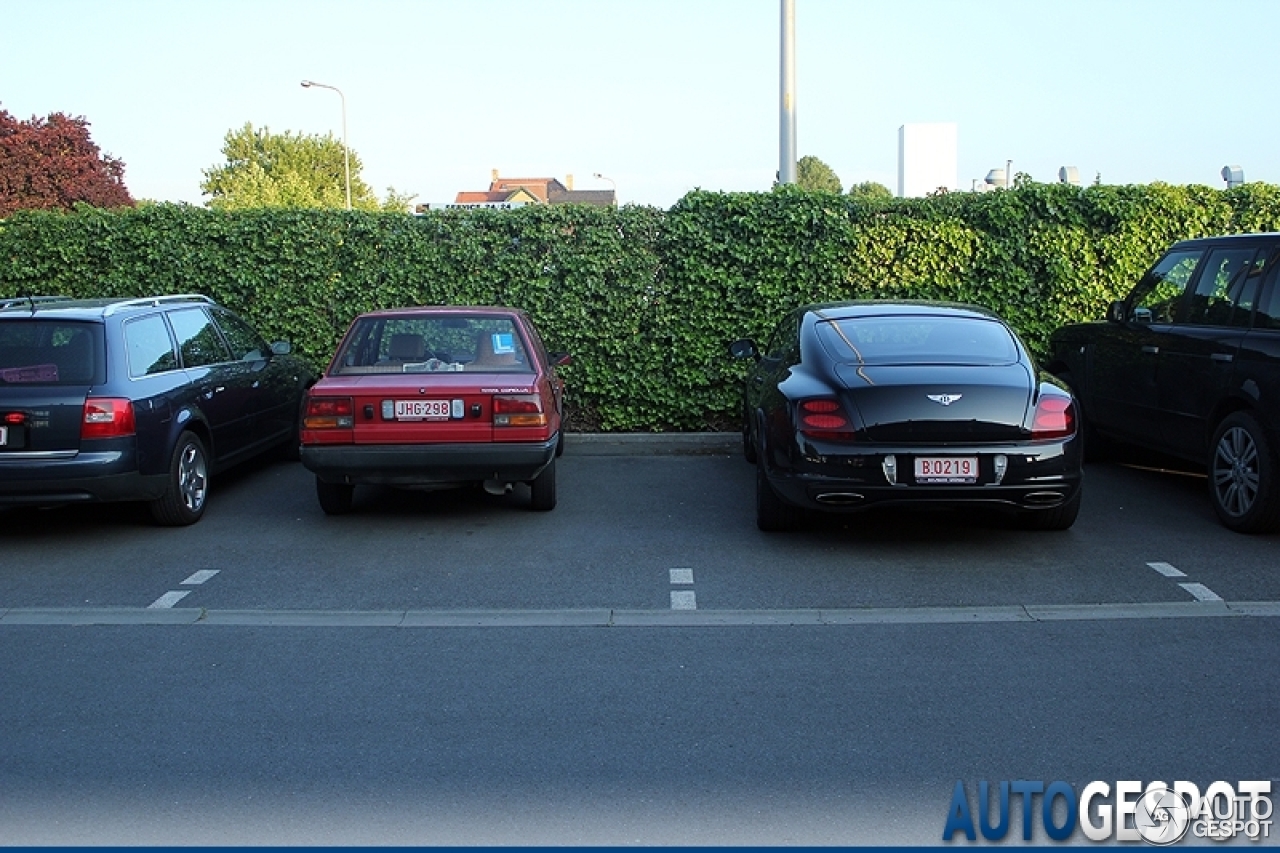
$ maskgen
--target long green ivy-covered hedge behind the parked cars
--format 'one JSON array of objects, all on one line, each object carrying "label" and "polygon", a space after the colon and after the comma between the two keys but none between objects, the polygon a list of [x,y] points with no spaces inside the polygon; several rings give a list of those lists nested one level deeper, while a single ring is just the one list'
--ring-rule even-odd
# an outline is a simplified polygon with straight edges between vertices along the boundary
[{"label": "long green ivy-covered hedge behind the parked cars", "polygon": [[0,222],[0,297],[207,293],[319,364],[351,318],[401,305],[527,310],[577,429],[732,428],[744,366],[790,307],[868,297],[987,305],[1037,352],[1101,318],[1171,242],[1280,231],[1280,187],[1024,183],[865,201],[782,188],[626,206],[26,211]]}]

